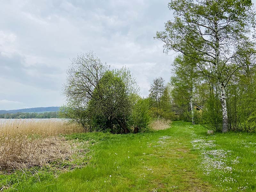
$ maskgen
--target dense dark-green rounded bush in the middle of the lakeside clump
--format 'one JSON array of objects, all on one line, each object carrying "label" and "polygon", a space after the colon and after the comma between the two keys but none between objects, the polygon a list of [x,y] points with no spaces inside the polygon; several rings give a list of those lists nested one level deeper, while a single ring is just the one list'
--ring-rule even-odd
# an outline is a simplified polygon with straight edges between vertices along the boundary
[{"label": "dense dark-green rounded bush in the middle of the lakeside clump", "polygon": [[113,71],[107,71],[88,103],[88,124],[110,129],[112,133],[120,132],[131,114],[131,107],[124,82]]}]

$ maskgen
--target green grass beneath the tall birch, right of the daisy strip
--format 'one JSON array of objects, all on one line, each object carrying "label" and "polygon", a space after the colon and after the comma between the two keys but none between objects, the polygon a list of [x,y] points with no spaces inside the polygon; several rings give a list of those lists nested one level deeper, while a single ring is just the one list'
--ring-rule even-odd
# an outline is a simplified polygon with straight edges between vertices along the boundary
[{"label": "green grass beneath the tall birch, right of the daisy strip", "polygon": [[[219,186],[223,191],[256,191],[256,137],[253,133],[228,132],[206,135],[201,126],[195,125],[197,137],[205,141],[213,140],[215,147],[206,148],[206,151],[216,150],[227,153],[226,157],[213,158],[224,162],[222,167],[230,167],[230,171],[214,169],[203,179]],[[203,150],[205,151],[205,150]],[[202,150],[201,150],[202,153]],[[204,160],[204,156],[202,156]],[[204,166],[203,166],[204,167]],[[228,168],[228,169],[230,169]]]}]

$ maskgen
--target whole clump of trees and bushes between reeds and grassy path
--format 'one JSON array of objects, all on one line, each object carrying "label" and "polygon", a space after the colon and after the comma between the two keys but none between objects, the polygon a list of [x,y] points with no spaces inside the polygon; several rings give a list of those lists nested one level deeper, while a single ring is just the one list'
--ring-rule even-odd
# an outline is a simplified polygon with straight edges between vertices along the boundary
[{"label": "whole clump of trees and bushes between reeds and grassy path", "polygon": [[81,124],[86,131],[137,133],[149,129],[150,102],[139,96],[129,69],[110,70],[88,52],[72,60],[67,75],[63,89],[67,103],[60,108],[60,117]]}]

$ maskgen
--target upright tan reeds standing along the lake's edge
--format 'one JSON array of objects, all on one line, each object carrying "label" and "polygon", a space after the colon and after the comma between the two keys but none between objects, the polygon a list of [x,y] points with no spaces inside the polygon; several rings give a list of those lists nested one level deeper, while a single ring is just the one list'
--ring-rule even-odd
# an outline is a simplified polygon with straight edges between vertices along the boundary
[{"label": "upright tan reeds standing along the lake's edge", "polygon": [[0,121],[0,134],[22,135],[38,134],[42,136],[71,134],[83,132],[83,128],[76,124],[67,124],[61,119],[7,119]]}]

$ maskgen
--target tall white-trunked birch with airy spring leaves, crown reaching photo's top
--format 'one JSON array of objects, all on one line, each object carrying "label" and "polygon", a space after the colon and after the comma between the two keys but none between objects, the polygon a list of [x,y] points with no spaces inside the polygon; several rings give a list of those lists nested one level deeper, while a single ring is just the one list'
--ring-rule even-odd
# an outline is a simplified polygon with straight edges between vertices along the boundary
[{"label": "tall white-trunked birch with airy spring leaves, crown reaching photo's top", "polygon": [[[228,131],[226,86],[241,66],[232,66],[238,45],[249,41],[255,24],[250,0],[172,0],[174,20],[157,32],[165,52],[174,50],[193,58],[204,76],[215,78],[220,89],[222,132]],[[232,66],[232,67],[230,67]]]}]

